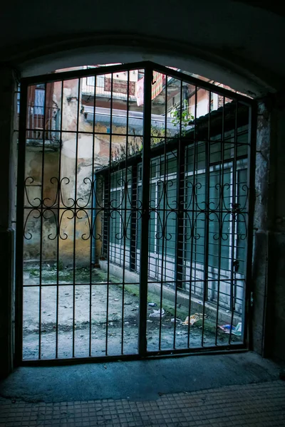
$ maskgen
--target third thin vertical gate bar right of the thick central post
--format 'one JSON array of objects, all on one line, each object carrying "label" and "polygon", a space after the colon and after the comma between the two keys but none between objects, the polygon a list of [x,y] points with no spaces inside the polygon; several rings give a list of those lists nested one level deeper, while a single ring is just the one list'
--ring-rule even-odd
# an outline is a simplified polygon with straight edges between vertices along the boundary
[{"label": "third thin vertical gate bar right of the thick central post", "polygon": [[[197,141],[196,141],[196,127],[197,127],[197,86],[195,86],[195,127],[194,127],[194,152],[193,152],[193,182],[192,182],[192,223],[191,223],[191,249],[190,249],[190,282],[189,282],[189,308],[188,308],[188,328],[187,328],[187,347],[190,347],[190,315],[191,315],[191,302],[192,302],[192,269],[193,269],[193,246],[194,246],[194,213],[195,213],[195,179],[196,179],[196,156],[197,156]],[[189,149],[189,145],[188,145]],[[187,191],[187,187],[185,188]],[[191,199],[190,199],[191,201]],[[188,206],[187,206],[188,207]],[[190,207],[190,206],[189,206]],[[196,261],[196,258],[195,258]],[[196,269],[195,269],[196,278]],[[194,281],[195,282],[195,281]]]}]

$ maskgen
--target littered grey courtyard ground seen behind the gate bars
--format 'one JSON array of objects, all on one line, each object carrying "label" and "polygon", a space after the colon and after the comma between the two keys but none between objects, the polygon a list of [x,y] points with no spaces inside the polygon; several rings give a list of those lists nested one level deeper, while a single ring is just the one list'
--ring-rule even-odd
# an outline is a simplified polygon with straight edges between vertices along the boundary
[{"label": "littered grey courtyard ground seen behind the gate bars", "polygon": [[[73,274],[76,285],[73,286]],[[126,283],[119,285],[119,279],[109,276],[100,268],[62,268],[58,272],[58,290],[54,285],[57,270],[54,265],[44,265],[40,272],[36,264],[27,264],[24,273],[24,321],[23,354],[24,359],[38,359],[39,313],[41,312],[41,358],[56,357],[56,316],[58,316],[58,357],[73,357],[73,339],[75,357],[100,357],[120,354],[138,353],[138,316],[139,285]],[[40,306],[41,292],[41,306]],[[73,304],[74,302],[74,304]],[[189,307],[177,305],[176,325],[174,322],[175,305],[167,300],[162,292],[160,296],[148,292],[147,306],[147,350],[184,349],[188,346],[188,325],[185,324]],[[58,305],[58,312],[56,307]],[[161,317],[153,317],[155,310],[164,310]],[[202,307],[201,310],[202,311]],[[107,317],[108,313],[108,317]],[[202,313],[194,309],[190,315],[197,314],[199,320],[191,325],[190,347],[211,347],[215,343],[216,317],[205,315],[204,337],[202,342]],[[73,328],[74,326],[74,328]],[[161,329],[161,331],[160,331]],[[123,337],[123,353],[122,353]],[[229,342],[229,335],[218,328],[217,345]],[[232,335],[231,342],[240,342]],[[89,354],[90,345],[90,354]],[[160,345],[160,348],[159,348]]]}]

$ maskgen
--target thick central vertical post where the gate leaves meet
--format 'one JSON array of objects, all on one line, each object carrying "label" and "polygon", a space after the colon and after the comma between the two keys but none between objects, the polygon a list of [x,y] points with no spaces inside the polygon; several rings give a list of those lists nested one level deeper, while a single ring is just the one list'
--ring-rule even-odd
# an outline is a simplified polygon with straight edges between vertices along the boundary
[{"label": "thick central vertical post where the gate leaves meet", "polygon": [[147,279],[148,235],[150,212],[150,129],[151,129],[152,68],[145,68],[144,122],[142,142],[142,221],[140,238],[140,320],[138,349],[140,356],[147,354]]}]

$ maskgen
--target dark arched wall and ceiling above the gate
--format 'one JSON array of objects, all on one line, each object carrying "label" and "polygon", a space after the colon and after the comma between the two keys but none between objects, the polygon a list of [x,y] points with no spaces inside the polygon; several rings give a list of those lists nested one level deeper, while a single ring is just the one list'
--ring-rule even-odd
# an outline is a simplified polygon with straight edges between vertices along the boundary
[{"label": "dark arched wall and ceiling above the gate", "polygon": [[250,3],[16,0],[1,11],[0,58],[38,74],[107,58],[161,60],[256,96],[283,85],[285,30],[284,16]]}]

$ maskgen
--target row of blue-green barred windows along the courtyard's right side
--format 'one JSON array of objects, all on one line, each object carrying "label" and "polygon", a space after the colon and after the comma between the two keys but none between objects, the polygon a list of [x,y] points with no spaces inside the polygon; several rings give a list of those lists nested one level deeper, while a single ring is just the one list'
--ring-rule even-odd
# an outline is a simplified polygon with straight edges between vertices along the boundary
[{"label": "row of blue-green barred windows along the courtyard's right side", "polygon": [[[177,180],[176,149],[150,159],[148,244],[150,278],[170,280],[170,283],[173,283],[175,273],[177,273],[178,285],[185,288],[189,286],[191,275],[194,280],[192,292],[197,295],[203,294],[202,283],[204,278],[208,278],[206,295],[209,300],[214,301],[217,300],[217,279],[229,280],[233,263],[235,273],[244,274],[247,227],[243,211],[247,210],[245,209],[247,204],[247,160],[242,157],[246,155],[246,133],[245,130],[242,130],[238,138],[237,155],[239,158],[235,168],[235,191],[233,189],[234,142],[232,132],[227,135],[227,139],[223,143],[220,139],[211,140],[208,152],[207,142],[197,142],[195,146],[193,143],[188,144],[185,147],[184,177],[180,176],[180,182]],[[223,151],[221,151],[222,144],[224,144]],[[209,155],[209,159],[207,159],[207,155]],[[221,161],[222,155],[223,162]],[[127,199],[125,210],[125,169],[113,172],[111,175],[111,199],[114,211],[110,220],[110,251],[113,251],[113,258],[111,257],[113,262],[123,265],[125,228],[127,228],[125,254],[130,255],[130,233],[132,231],[132,221],[128,221],[130,197]],[[130,172],[128,172],[128,176],[131,176]],[[140,209],[142,201],[141,162],[138,164],[137,176],[135,198],[137,208]],[[209,188],[207,189],[208,183]],[[129,196],[131,187],[128,182]],[[178,194],[180,197],[182,196],[184,205],[184,214],[180,219],[177,213]],[[233,201],[234,194],[236,194],[235,202]],[[232,214],[233,204],[241,208],[235,219]],[[178,238],[177,230],[179,230]],[[135,243],[133,243],[137,253],[135,256],[139,260],[140,221],[137,221],[135,231],[132,232],[135,236]],[[206,233],[208,233],[207,241]],[[207,247],[205,247],[206,243]],[[177,245],[179,246],[178,252]],[[176,259],[177,255],[179,260]],[[204,269],[206,260],[207,272]],[[135,265],[138,268],[138,263]],[[161,278],[162,271],[163,278]],[[185,285],[185,283],[188,284]],[[224,291],[227,295],[227,282],[224,283]],[[227,296],[224,297],[224,300],[221,298],[220,302],[222,301],[226,306],[229,303]]]}]

